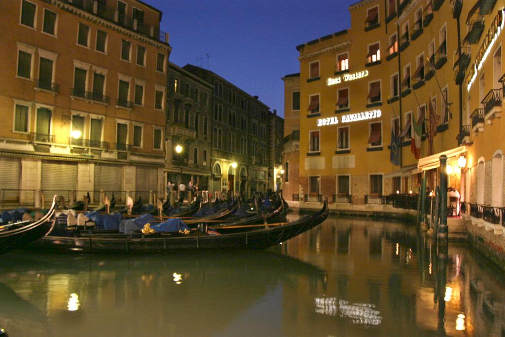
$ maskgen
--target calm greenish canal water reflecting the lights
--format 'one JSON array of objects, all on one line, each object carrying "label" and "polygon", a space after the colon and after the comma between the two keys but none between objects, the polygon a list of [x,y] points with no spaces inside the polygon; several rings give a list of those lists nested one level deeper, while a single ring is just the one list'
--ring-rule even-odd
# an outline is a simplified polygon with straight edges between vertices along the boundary
[{"label": "calm greenish canal water reflecting the lights", "polygon": [[[291,218],[298,215],[290,215]],[[20,336],[497,336],[503,273],[398,222],[330,216],[259,252],[0,260]]]}]

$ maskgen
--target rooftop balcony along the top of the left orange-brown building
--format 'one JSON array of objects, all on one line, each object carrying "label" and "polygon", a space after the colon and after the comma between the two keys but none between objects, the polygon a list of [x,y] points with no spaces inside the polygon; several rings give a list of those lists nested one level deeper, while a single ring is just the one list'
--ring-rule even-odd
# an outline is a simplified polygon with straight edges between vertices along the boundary
[{"label": "rooftop balcony along the top of the left orange-brown building", "polygon": [[82,11],[93,14],[99,18],[113,22],[124,28],[133,30],[139,34],[148,36],[151,39],[168,43],[166,34],[160,31],[158,26],[151,26],[143,22],[139,22],[133,17],[127,16],[116,10],[116,8],[100,4],[98,0],[82,0],[80,2],[70,2],[69,0],[61,0],[67,5],[76,7]]}]

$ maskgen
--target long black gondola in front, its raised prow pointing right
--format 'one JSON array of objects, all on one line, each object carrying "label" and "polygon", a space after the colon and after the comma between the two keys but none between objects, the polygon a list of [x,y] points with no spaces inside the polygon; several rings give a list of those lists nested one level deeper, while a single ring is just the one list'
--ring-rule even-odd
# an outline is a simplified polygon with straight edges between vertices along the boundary
[{"label": "long black gondola in front, its raised prow pointing right", "polygon": [[[79,253],[155,253],[200,250],[257,250],[277,245],[319,225],[328,217],[328,200],[320,211],[294,222],[276,226],[253,227],[237,233],[208,235],[193,231],[188,235],[82,235],[80,237],[47,235],[30,245],[36,250]],[[266,227],[266,228],[265,228]]]}]

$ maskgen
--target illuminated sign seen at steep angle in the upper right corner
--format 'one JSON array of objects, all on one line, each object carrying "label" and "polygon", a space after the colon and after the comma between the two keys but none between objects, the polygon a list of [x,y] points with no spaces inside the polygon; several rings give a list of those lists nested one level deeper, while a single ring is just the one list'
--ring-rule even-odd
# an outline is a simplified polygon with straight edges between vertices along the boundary
[{"label": "illuminated sign seen at steep angle in the upper right corner", "polygon": [[493,22],[491,23],[491,27],[489,27],[487,34],[484,36],[482,44],[480,45],[479,52],[475,57],[475,63],[470,66],[470,70],[467,75],[467,90],[469,91],[472,87],[475,78],[477,77],[477,73],[481,70],[484,61],[486,60],[489,53],[493,49],[493,45],[498,39],[498,36],[503,29],[503,20],[505,16],[505,10],[501,9],[496,14]]}]

